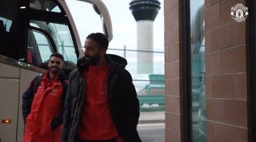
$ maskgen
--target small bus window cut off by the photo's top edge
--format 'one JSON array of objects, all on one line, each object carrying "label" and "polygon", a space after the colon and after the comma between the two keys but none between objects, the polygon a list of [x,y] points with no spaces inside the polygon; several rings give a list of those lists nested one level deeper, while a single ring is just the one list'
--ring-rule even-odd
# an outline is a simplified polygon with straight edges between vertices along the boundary
[{"label": "small bus window cut off by the photo's top edge", "polygon": [[59,6],[52,0],[30,0],[30,9],[61,12]]}]

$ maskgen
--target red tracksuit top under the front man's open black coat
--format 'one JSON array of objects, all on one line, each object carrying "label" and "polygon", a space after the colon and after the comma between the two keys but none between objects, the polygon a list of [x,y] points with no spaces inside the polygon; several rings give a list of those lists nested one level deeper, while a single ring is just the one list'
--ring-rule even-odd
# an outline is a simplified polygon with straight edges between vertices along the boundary
[{"label": "red tracksuit top under the front man's open black coat", "polygon": [[100,66],[89,66],[86,78],[85,102],[78,128],[82,140],[109,140],[118,136],[108,103],[107,78],[109,67],[106,61]]}]

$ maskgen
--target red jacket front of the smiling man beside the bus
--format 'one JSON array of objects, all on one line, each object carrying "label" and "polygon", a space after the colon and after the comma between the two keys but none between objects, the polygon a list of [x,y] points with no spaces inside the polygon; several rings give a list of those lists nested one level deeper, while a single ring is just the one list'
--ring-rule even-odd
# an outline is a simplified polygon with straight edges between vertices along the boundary
[{"label": "red jacket front of the smiling man beside the bus", "polygon": [[47,75],[48,72],[43,74],[40,86],[32,100],[31,111],[25,118],[24,142],[60,141],[62,126],[60,124],[54,126],[53,119],[62,117],[64,108],[61,98],[65,94],[63,90],[66,89],[63,89],[60,77],[57,80],[49,81]]}]

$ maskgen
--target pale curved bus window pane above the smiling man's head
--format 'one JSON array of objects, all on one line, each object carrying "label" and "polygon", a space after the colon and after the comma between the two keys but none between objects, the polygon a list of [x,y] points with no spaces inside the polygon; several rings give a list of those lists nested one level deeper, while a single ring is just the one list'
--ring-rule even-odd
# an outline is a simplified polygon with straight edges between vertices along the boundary
[{"label": "pale curved bus window pane above the smiling man's head", "polygon": [[61,53],[65,60],[77,61],[75,46],[67,25],[31,20],[30,26],[40,28],[51,35],[56,46],[56,51]]}]

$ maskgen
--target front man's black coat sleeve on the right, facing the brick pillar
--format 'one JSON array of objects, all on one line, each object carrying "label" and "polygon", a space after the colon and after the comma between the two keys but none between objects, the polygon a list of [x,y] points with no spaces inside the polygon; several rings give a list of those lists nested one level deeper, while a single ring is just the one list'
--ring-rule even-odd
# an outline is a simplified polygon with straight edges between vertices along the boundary
[{"label": "front man's black coat sleeve on the right, facing the brick pillar", "polygon": [[125,114],[125,132],[123,133],[123,140],[125,142],[140,142],[141,139],[138,135],[137,124],[139,120],[139,101],[137,93],[133,85],[133,80],[130,73],[124,70],[120,74],[125,83],[125,89],[123,92],[127,97],[126,114]]}]

